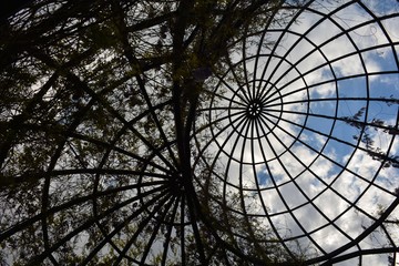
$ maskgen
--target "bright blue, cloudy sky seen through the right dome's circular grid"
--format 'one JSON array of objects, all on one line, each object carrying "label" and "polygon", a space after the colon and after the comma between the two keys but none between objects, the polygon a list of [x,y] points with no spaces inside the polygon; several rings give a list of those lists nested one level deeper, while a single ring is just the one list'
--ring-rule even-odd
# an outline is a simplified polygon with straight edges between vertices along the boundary
[{"label": "bright blue, cloudy sky seen through the right dome's circular grid", "polygon": [[[238,44],[234,66],[203,110],[204,123],[219,120],[204,134],[215,137],[205,151],[221,166],[221,195],[244,188],[245,207],[233,208],[275,225],[282,239],[297,237],[309,256],[358,237],[397,197],[398,168],[382,167],[367,151],[398,155],[398,137],[372,125],[397,123],[398,103],[382,99],[399,98],[398,9],[392,0],[313,2],[295,20]],[[262,114],[247,119],[256,101]],[[349,124],[355,115],[369,125]],[[399,218],[399,209],[389,217]],[[388,231],[399,245],[399,233]],[[342,254],[389,245],[379,227]],[[387,259],[365,256],[362,263]]]}]

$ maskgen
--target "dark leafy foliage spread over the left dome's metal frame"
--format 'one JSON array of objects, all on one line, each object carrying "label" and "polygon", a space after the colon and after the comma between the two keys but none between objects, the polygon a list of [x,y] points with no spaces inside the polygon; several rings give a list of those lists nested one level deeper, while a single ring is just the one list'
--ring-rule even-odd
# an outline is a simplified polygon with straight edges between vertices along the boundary
[{"label": "dark leafy foliage spread over the left dome's metal frame", "polygon": [[232,212],[248,195],[223,202],[208,182],[198,206],[190,184],[171,187],[193,181],[192,130],[212,98],[213,76],[194,72],[225,75],[238,40],[284,23],[274,19],[282,3],[41,0],[10,17],[0,33],[0,264],[110,265],[124,248],[122,265],[304,260]]}]

